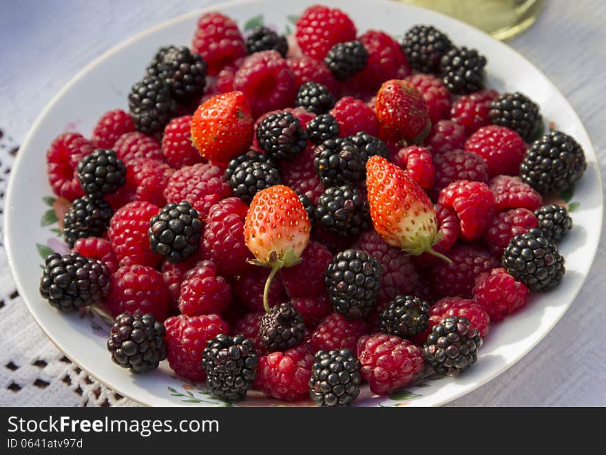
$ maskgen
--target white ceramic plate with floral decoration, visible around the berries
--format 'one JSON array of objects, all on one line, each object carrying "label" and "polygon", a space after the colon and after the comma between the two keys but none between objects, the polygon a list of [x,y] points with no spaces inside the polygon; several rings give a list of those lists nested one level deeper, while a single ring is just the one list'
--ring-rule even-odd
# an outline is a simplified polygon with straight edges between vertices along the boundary
[{"label": "white ceramic plate with floral decoration, visible around the berries", "polygon": [[[279,31],[293,29],[291,15],[299,15],[313,0],[237,1],[218,9],[238,21],[240,28],[260,20]],[[457,378],[425,381],[390,397],[377,397],[365,388],[355,405],[441,405],[490,381],[529,352],[556,324],[581,288],[592,264],[601,231],[603,201],[596,154],[574,109],[530,62],[507,45],[448,17],[393,1],[325,1],[348,12],[360,32],[379,28],[398,38],[411,25],[430,23],[444,30],[455,43],[476,47],[488,56],[488,86],[499,91],[519,90],[536,100],[545,119],[581,143],[587,171],[574,191],[574,229],[561,244],[567,273],[557,292],[533,295],[526,308],[492,327],[473,368]],[[94,310],[63,315],[44,301],[38,291],[42,255],[48,249],[65,251],[57,237],[52,191],[45,173],[45,150],[65,130],[90,134],[103,112],[126,107],[130,85],[143,73],[160,45],[189,45],[196,19],[193,12],[134,36],[85,67],[55,96],[25,138],[12,169],[6,204],[6,248],[10,265],[32,315],[67,357],[110,388],[147,405],[222,405],[198,385],[174,377],[168,366],[145,375],[117,368],[105,348],[108,319]],[[47,198],[45,198],[47,197]],[[578,207],[577,207],[578,206]],[[41,221],[42,218],[42,221]],[[282,402],[280,402],[282,403]],[[276,405],[258,393],[240,405]],[[284,404],[284,403],[282,403]],[[310,403],[296,403],[310,405]],[[478,403],[490,405],[490,403]]]}]

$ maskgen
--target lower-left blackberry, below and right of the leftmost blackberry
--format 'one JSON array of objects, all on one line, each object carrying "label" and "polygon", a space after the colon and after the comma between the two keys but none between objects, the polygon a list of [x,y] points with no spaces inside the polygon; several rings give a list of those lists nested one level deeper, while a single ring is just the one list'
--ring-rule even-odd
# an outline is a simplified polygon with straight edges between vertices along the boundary
[{"label": "lower-left blackberry, below and right of the leftmost blackberry", "polygon": [[158,368],[166,359],[166,328],[154,315],[122,313],[114,319],[107,340],[112,361],[133,373],[145,373]]}]

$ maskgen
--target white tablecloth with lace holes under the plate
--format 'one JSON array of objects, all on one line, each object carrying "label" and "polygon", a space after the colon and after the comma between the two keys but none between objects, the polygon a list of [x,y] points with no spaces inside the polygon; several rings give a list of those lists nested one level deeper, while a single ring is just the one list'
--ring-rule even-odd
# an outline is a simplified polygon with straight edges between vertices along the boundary
[{"label": "white tablecloth with lace holes under the plate", "polygon": [[[129,36],[213,3],[218,2],[0,2],[0,217],[19,142],[52,96],[84,65]],[[545,3],[539,21],[510,45],[570,100],[604,176],[606,3]],[[497,379],[451,405],[606,405],[605,237],[583,290],[550,334]],[[136,405],[92,380],[48,341],[15,290],[1,246],[0,346],[0,405]]]}]

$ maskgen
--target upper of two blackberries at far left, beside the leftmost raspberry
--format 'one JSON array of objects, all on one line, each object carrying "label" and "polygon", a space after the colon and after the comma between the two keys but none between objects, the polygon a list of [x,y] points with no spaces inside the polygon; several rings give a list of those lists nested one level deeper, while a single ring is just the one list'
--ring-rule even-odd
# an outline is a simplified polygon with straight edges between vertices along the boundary
[{"label": "upper of two blackberries at far left, beside the leftmost raspberry", "polygon": [[87,194],[102,198],[123,187],[126,166],[112,149],[96,149],[78,162],[80,186]]}]

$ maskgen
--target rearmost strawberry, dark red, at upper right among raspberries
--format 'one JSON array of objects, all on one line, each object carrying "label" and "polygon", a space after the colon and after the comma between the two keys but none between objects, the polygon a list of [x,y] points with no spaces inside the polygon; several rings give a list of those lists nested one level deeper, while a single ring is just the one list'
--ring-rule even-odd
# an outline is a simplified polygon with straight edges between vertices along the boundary
[{"label": "rearmost strawberry, dark red, at upper right among raspberries", "polygon": [[379,118],[379,137],[387,142],[419,142],[431,128],[423,94],[400,79],[383,83],[377,92],[375,112]]}]

